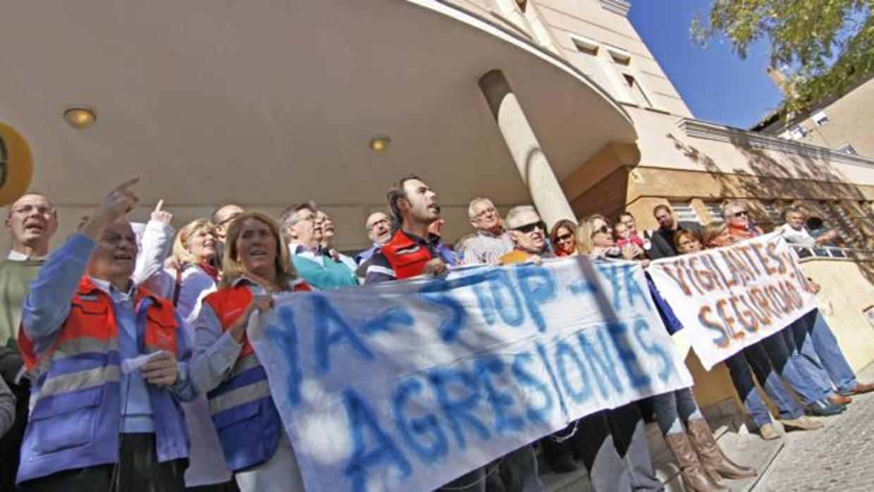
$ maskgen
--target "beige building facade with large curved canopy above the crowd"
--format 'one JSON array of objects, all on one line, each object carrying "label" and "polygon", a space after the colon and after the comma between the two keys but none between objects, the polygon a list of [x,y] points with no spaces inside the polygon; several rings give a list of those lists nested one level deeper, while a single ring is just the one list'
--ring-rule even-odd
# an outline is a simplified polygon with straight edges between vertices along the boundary
[{"label": "beige building facade with large curved canopy above the crowd", "polygon": [[[736,197],[766,229],[783,206],[803,204],[847,245],[874,246],[867,143],[850,138],[863,155],[854,156],[829,136],[787,140],[697,120],[630,8],[94,0],[48,15],[17,3],[0,18],[0,121],[30,143],[31,190],[59,205],[59,239],[103,191],[140,176],[135,218],[160,198],[178,224],[221,203],[276,215],[313,199],[333,215],[337,246],[363,249],[364,218],[385,209],[394,178],[417,172],[440,194],[450,240],[469,232],[475,196],[534,203],[550,223],[628,210],[644,228],[656,225],[655,204],[707,223]],[[72,104],[94,107],[93,128],[66,125]],[[838,111],[826,113],[836,128]],[[369,148],[375,135],[390,137],[388,149]],[[871,265],[816,261],[808,268],[840,341],[852,364],[868,364]],[[721,378],[697,385],[705,402],[730,392],[719,371],[696,377]]]}]

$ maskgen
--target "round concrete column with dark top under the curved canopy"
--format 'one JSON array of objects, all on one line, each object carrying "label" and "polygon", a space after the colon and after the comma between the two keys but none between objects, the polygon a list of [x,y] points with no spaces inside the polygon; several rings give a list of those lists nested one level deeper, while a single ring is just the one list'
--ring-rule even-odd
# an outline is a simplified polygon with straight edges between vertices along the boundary
[{"label": "round concrete column with dark top under the curved canopy", "polygon": [[561,190],[561,185],[540,148],[540,142],[503,72],[492,70],[480,78],[479,84],[540,217],[549,227],[562,218],[576,222],[577,218],[571,205],[567,203],[565,192]]}]

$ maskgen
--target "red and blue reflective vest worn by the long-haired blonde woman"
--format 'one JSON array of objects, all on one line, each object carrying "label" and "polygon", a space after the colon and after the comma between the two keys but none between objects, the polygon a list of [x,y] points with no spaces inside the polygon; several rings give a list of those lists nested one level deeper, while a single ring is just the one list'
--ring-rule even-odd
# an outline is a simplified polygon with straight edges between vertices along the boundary
[{"label": "red and blue reflective vest worn by the long-haired blonde woman", "polygon": [[[304,281],[295,281],[294,292],[309,291]],[[246,312],[253,294],[239,282],[207,295],[204,302],[221,324],[231,328]],[[230,376],[208,393],[212,423],[218,431],[227,467],[233,471],[259,465],[273,457],[282,431],[282,421],[270,397],[267,373],[261,367],[246,334]]]}]

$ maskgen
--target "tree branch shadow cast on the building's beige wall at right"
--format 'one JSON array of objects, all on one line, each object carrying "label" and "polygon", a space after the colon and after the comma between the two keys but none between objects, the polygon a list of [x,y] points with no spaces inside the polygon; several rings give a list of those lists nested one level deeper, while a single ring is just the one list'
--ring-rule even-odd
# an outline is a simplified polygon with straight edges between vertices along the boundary
[{"label": "tree branch shadow cast on the building's beige wall at right", "polygon": [[[804,200],[805,208],[815,215],[829,217],[816,200],[865,200],[864,193],[854,184],[844,183],[846,179],[828,163],[810,156],[787,155],[792,164],[782,163],[768,156],[761,149],[755,149],[742,132],[733,132],[729,142],[745,157],[750,169],[735,168],[726,173],[716,161],[696,147],[682,142],[669,133],[667,138],[683,156],[700,165],[718,183],[718,197],[767,197],[787,201]],[[751,207],[753,216],[770,222],[766,212],[758,204]],[[858,225],[857,225],[858,226]],[[869,239],[870,240],[870,239]],[[855,261],[864,278],[874,284],[874,262]]]}]

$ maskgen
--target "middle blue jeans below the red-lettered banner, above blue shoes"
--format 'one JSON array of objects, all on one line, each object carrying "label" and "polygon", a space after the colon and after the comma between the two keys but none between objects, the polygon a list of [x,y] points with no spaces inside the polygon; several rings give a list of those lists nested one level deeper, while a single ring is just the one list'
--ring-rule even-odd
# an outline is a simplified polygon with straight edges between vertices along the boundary
[{"label": "middle blue jeans below the red-lettered banner, above blue shoes", "polygon": [[827,376],[801,356],[795,346],[791,325],[768,336],[761,345],[773,369],[798,393],[804,405],[829,397],[832,390]]}]

